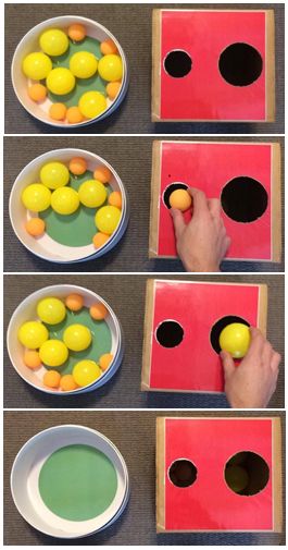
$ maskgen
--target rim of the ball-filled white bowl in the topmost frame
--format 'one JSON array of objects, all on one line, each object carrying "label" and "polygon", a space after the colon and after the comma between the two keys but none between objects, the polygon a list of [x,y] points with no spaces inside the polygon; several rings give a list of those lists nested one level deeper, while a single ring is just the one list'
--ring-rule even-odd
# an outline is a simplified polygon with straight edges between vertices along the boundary
[{"label": "rim of the ball-filled white bowl in the topmost frame", "polygon": [[[17,86],[15,85],[15,80],[14,80],[14,64],[15,64],[15,60],[16,60],[20,51],[21,51],[21,48],[22,48],[23,44],[28,39],[29,34],[32,32],[36,30],[37,27],[42,26],[43,24],[50,24],[50,23],[53,24],[53,23],[57,23],[57,21],[59,21],[59,20],[63,20],[63,17],[65,17],[67,20],[71,20],[71,22],[74,21],[74,23],[84,23],[84,24],[86,23],[86,24],[90,24],[90,25],[93,25],[93,26],[100,28],[103,33],[105,33],[108,35],[109,38],[111,38],[115,42],[115,45],[117,46],[117,50],[120,52],[122,62],[123,62],[123,81],[122,81],[122,86],[121,86],[118,96],[115,99],[115,101],[113,101],[113,103],[111,103],[102,113],[100,113],[95,119],[89,119],[88,121],[77,122],[77,123],[74,123],[74,124],[63,124],[63,123],[61,124],[60,123],[61,121],[53,121],[52,119],[51,119],[51,121],[46,121],[46,120],[39,119],[39,117],[37,117],[32,109],[29,109],[26,105],[24,105],[24,101],[20,98],[18,93],[17,93]],[[13,89],[14,89],[14,94],[15,94],[17,100],[20,101],[20,103],[22,105],[22,107],[32,117],[34,117],[34,119],[38,120],[42,124],[48,124],[49,126],[53,126],[53,127],[58,127],[58,129],[61,127],[61,129],[67,129],[67,130],[72,129],[73,130],[73,129],[76,129],[76,127],[83,127],[83,126],[87,126],[89,124],[93,124],[96,122],[100,122],[101,120],[103,120],[103,118],[107,118],[111,113],[112,107],[117,101],[118,97],[122,95],[122,91],[124,90],[124,88],[126,88],[126,86],[127,86],[127,61],[126,61],[126,56],[124,53],[124,50],[123,50],[121,44],[118,42],[118,40],[101,23],[98,23],[97,21],[91,20],[89,17],[83,17],[80,15],[58,15],[57,17],[50,17],[48,20],[41,21],[40,23],[38,23],[34,27],[32,27],[29,30],[27,30],[27,33],[21,38],[21,40],[18,41],[18,44],[17,44],[17,46],[16,46],[16,48],[14,50],[14,53],[13,53],[10,74],[11,74],[11,81],[12,81],[12,86],[13,86]],[[125,96],[125,94],[124,94],[124,96]],[[122,97],[122,99],[124,99],[124,96]]]}]

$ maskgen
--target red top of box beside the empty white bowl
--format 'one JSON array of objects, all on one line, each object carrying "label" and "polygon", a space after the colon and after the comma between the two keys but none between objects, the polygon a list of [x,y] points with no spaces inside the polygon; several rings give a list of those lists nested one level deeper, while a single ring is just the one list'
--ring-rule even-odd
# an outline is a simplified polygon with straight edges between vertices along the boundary
[{"label": "red top of box beside the empty white bowl", "polygon": [[[165,419],[165,529],[273,530],[272,419]],[[270,480],[256,494],[240,496],[224,479],[226,462],[252,451],[270,467]],[[179,488],[168,478],[171,464],[188,459],[197,467],[196,481]]]}]

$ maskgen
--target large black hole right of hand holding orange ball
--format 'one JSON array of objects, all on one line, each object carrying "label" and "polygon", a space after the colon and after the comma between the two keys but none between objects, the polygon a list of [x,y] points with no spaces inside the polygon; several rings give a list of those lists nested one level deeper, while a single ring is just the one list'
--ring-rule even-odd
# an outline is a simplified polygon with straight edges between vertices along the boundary
[{"label": "large black hole right of hand holding orange ball", "polygon": [[224,212],[234,221],[249,223],[263,216],[268,195],[260,182],[241,175],[230,180],[222,190],[221,204]]}]

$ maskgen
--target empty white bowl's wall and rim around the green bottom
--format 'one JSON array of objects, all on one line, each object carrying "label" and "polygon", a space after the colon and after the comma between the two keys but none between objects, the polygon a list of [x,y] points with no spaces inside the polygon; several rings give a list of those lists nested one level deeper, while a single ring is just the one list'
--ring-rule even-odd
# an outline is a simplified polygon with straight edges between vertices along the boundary
[{"label": "empty white bowl's wall and rim around the green bottom", "polygon": [[[113,502],[92,520],[73,522],[63,520],[43,503],[38,478],[47,459],[58,449],[71,444],[86,444],[104,453],[113,463],[117,489]],[[85,537],[114,523],[127,503],[128,472],[116,447],[102,433],[84,426],[55,426],[29,439],[16,455],[11,470],[11,492],[20,514],[33,527],[58,538]]]}]

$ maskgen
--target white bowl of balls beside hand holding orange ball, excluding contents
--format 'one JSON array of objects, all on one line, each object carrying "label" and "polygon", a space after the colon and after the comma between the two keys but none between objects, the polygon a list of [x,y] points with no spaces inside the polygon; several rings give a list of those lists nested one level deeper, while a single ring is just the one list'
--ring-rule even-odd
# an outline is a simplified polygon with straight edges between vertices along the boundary
[{"label": "white bowl of balls beside hand holding orange ball, excluding contents", "polygon": [[[120,191],[122,194],[123,206],[118,225],[111,235],[110,240],[98,249],[95,248],[92,243],[86,246],[65,246],[53,241],[47,233],[38,239],[35,239],[25,230],[25,222],[32,217],[37,217],[37,213],[29,212],[25,208],[21,200],[22,192],[30,183],[39,181],[40,169],[46,162],[59,160],[61,162],[68,163],[73,157],[84,158],[87,162],[87,169],[90,171],[93,171],[99,164],[103,164],[109,168],[112,173],[110,185],[114,191]],[[57,264],[72,264],[76,261],[96,259],[102,256],[118,243],[125,233],[128,223],[127,196],[118,174],[109,164],[109,162],[98,155],[74,148],[51,150],[32,160],[21,171],[11,190],[9,213],[13,231],[21,243],[39,258]]]}]

